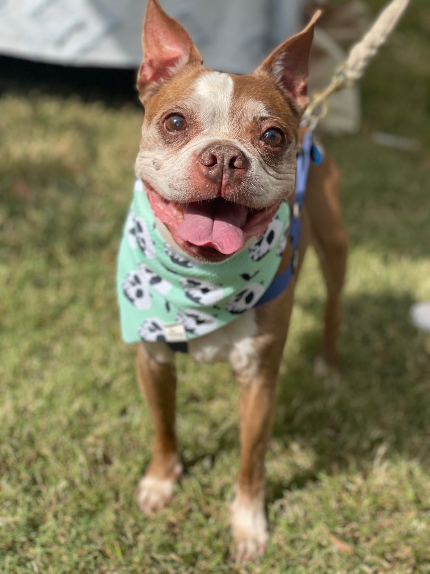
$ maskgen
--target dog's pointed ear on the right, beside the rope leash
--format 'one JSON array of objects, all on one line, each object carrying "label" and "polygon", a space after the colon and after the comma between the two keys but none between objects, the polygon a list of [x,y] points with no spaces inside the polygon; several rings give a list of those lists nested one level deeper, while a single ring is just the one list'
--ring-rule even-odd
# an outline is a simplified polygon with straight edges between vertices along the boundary
[{"label": "dog's pointed ear on the right, beside the rope leash", "polygon": [[268,73],[273,76],[280,87],[294,98],[299,107],[300,115],[306,110],[308,104],[309,53],[314,38],[315,24],[320,15],[321,11],[318,10],[302,32],[276,48],[254,72],[255,74]]}]

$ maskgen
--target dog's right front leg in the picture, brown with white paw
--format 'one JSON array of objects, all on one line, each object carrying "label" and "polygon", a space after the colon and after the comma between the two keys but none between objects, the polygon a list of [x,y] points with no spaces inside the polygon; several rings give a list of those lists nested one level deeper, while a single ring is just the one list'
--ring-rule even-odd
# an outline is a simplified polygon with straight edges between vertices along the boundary
[{"label": "dog's right front leg in the picture, brown with white paw", "polygon": [[[267,545],[264,461],[272,432],[276,382],[293,293],[294,282],[276,300],[257,309],[255,322],[260,335],[248,339],[230,355],[230,364],[241,386],[241,459],[231,513],[238,562],[255,559]],[[240,353],[240,347],[247,352]]]}]

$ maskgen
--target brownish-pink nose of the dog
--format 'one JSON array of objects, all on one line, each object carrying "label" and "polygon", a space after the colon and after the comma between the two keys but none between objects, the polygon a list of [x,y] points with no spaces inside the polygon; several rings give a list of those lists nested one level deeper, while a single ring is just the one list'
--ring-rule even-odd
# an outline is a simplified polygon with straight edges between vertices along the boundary
[{"label": "brownish-pink nose of the dog", "polygon": [[230,184],[240,183],[248,166],[245,155],[232,145],[209,145],[200,153],[198,160],[206,177],[216,183],[223,176]]}]

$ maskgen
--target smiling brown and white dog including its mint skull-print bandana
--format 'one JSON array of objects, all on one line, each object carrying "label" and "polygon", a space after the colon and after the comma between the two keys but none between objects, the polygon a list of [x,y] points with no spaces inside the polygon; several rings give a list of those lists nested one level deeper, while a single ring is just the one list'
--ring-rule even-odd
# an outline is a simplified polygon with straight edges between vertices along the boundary
[{"label": "smiling brown and white dog including its mint skull-print bandana", "polygon": [[[138,312],[150,313],[133,327],[140,338],[138,381],[155,428],[153,456],[136,495],[144,513],[160,510],[173,497],[183,470],[175,434],[174,366],[175,351],[183,349],[175,345],[185,344],[201,363],[228,362],[241,387],[240,470],[231,507],[237,561],[256,559],[267,545],[264,459],[294,289],[310,244],[327,286],[318,364],[324,370],[337,367],[347,235],[338,172],[329,157],[308,172],[304,205],[295,214],[301,232],[288,286],[255,304],[267,290],[264,281],[282,276],[294,255],[279,214],[294,211],[297,156],[306,137],[306,127],[298,125],[308,103],[317,18],[318,13],[243,76],[203,67],[190,36],[158,0],[148,1],[143,25],[137,85],[145,113],[135,197],[147,202],[142,209],[150,221],[130,212],[123,243],[144,260],[118,276],[130,321]],[[159,254],[155,232],[164,241]],[[255,266],[252,273],[239,269],[243,253]],[[237,285],[242,283],[225,300],[220,274],[227,268],[237,273]],[[173,313],[175,277],[182,307],[178,303],[167,325],[161,312]],[[150,310],[162,301],[165,309]]]}]

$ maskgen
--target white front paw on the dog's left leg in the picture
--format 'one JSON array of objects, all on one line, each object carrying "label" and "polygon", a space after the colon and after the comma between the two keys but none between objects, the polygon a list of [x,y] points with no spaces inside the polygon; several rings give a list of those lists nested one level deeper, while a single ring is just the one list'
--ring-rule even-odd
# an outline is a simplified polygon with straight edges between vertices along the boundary
[{"label": "white front paw on the dog's left leg in the picture", "polygon": [[136,489],[136,499],[144,514],[158,512],[170,502],[175,484],[182,474],[182,465],[177,464],[174,478],[160,479],[156,476],[143,476]]}]

